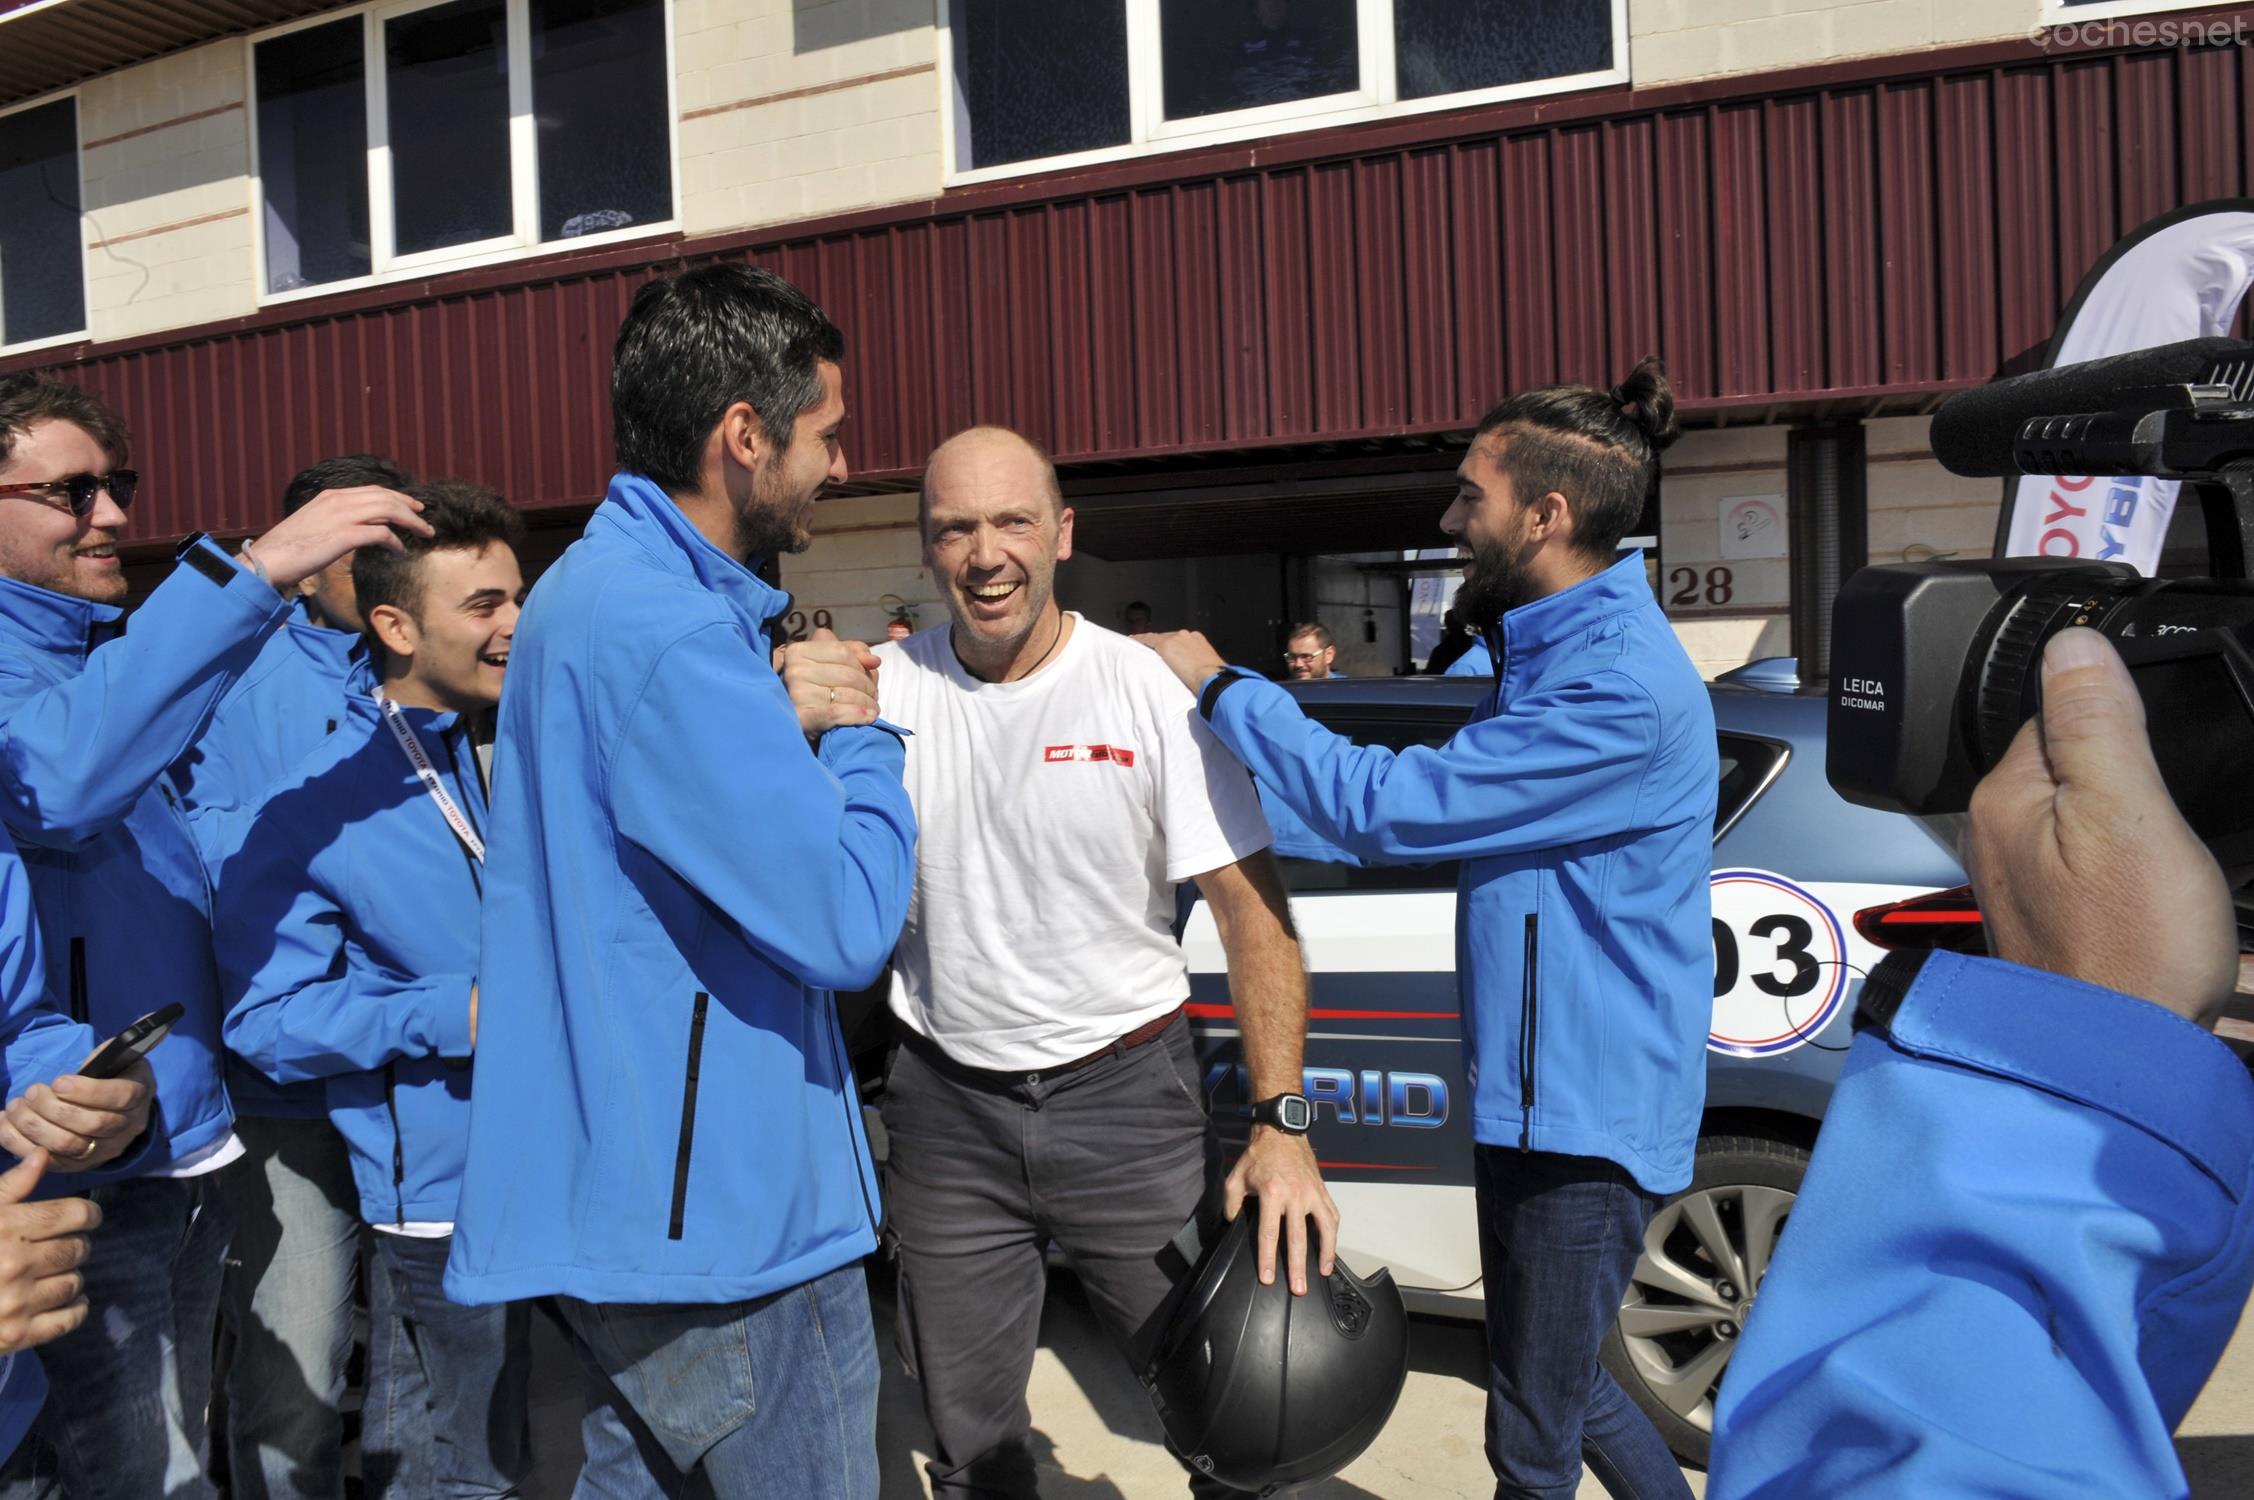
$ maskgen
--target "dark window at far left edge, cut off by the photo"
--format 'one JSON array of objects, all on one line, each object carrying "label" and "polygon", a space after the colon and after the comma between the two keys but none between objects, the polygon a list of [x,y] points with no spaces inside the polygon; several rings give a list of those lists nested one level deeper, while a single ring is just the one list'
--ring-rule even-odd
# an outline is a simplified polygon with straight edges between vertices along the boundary
[{"label": "dark window at far left edge, cut off by the photo", "polygon": [[0,115],[0,347],[86,332],[79,102]]}]

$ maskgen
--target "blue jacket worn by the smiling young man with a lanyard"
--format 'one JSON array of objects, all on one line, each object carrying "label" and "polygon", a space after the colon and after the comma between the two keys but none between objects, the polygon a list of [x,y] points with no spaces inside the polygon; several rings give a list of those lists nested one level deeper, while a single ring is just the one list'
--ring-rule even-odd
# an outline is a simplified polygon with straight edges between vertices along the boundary
[{"label": "blue jacket worn by the smiling young man with a lanyard", "polygon": [[[219,880],[228,1047],[327,1089],[361,1216],[453,1218],[469,1148],[469,990],[482,873],[383,724],[361,665],[343,726],[268,789]],[[401,708],[473,828],[469,724]]]}]

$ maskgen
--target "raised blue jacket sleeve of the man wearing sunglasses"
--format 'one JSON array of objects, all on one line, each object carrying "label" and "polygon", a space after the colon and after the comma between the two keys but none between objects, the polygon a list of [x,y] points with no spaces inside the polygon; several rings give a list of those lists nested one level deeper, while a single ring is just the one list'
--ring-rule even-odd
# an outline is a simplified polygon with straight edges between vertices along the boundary
[{"label": "raised blue jacket sleeve of the man wearing sunglasses", "polygon": [[77,677],[0,665],[0,823],[20,844],[74,848],[115,828],[289,614],[216,546],[196,548],[207,557],[174,568]]}]

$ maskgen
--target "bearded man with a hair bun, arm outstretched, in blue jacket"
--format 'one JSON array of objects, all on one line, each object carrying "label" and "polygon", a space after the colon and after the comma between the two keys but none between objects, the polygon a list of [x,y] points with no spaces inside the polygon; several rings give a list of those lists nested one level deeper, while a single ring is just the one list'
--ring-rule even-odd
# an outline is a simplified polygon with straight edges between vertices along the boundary
[{"label": "bearded man with a hair bun, arm outstretched, in blue jacket", "polygon": [[1501,674],[1443,747],[1357,747],[1204,636],[1156,641],[1222,744],[1316,837],[1463,862],[1499,1498],[1571,1495],[1585,1459],[1614,1495],[1688,1495],[1596,1362],[1643,1225],[1690,1184],[1706,1098],[1713,708],[1643,562],[1614,562],[1672,406],[1645,361],[1612,392],[1533,390],[1479,424],[1440,528],[1467,550],[1456,607]]}]

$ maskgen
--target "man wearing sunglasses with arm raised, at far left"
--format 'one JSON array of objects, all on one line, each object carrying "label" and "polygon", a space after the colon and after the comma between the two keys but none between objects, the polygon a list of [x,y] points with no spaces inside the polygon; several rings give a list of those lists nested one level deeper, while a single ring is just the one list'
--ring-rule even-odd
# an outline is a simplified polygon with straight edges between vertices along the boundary
[{"label": "man wearing sunglasses with arm raised, at far left", "polygon": [[203,1410],[228,1243],[212,1173],[241,1144],[210,895],[167,767],[302,577],[361,546],[399,548],[392,526],[428,535],[412,501],[372,487],[320,496],[239,557],[198,535],[122,634],[117,544],[135,489],[124,424],[95,395],[0,379],[0,826],[32,873],[47,990],[99,1035],[167,999],[187,1008],[149,1056],[149,1141],[41,1184],[101,1207],[101,1252],[83,1272],[95,1315],[45,1351],[52,1401],[0,1471],[9,1495],[34,1475],[61,1475],[74,1500],[212,1493]]}]

